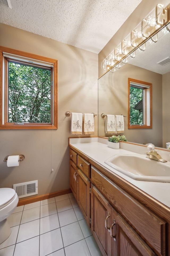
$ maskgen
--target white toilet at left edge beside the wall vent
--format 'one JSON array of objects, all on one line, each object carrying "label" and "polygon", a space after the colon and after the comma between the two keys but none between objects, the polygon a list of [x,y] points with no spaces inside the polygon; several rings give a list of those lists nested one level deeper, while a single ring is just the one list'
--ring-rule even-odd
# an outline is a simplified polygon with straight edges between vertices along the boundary
[{"label": "white toilet at left edge beside the wall vent", "polygon": [[0,244],[11,234],[11,228],[6,218],[15,210],[18,200],[14,189],[0,188]]}]

